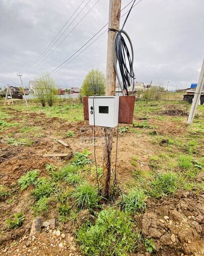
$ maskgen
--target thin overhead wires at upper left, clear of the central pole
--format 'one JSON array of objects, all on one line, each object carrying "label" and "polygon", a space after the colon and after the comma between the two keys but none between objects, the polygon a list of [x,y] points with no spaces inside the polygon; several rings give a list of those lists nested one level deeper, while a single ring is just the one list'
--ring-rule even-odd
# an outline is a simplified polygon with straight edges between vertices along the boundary
[{"label": "thin overhead wires at upper left, clear of the central pole", "polygon": [[[27,69],[24,69],[23,70],[23,72],[25,72],[25,71],[28,71],[32,66],[34,66],[40,59],[41,59],[41,57],[43,57],[44,56],[44,53],[46,53],[47,52],[47,50],[49,51],[49,49],[51,49],[52,48],[52,46],[58,41],[58,39],[60,39],[60,37],[65,33],[65,31],[67,30],[67,28],[69,28],[70,27],[70,25],[63,31],[63,33],[61,34],[61,36],[57,39],[57,41],[55,41],[55,39],[57,38],[57,36],[58,35],[60,35],[60,33],[62,32],[62,30],[65,28],[65,26],[67,25],[67,23],[71,20],[71,18],[73,17],[73,15],[79,10],[79,8],[80,8],[80,6],[83,4],[83,2],[84,2],[85,0],[83,0],[81,3],[80,3],[80,5],[77,7],[77,9],[72,13],[72,15],[70,16],[70,18],[65,22],[65,24],[63,25],[63,27],[60,29],[60,31],[56,34],[56,36],[53,38],[53,40],[49,43],[49,45],[46,47],[46,49],[40,54],[40,56],[27,68]],[[89,1],[90,2],[90,1]],[[88,2],[88,3],[89,3]],[[88,4],[87,3],[87,4]],[[83,7],[83,9],[87,6],[87,4]],[[82,10],[83,10],[82,9]],[[81,11],[82,11],[81,10]],[[81,12],[80,12],[81,13]],[[78,15],[80,14],[80,13],[78,13]],[[74,20],[78,17],[78,15],[74,18]],[[73,21],[74,21],[73,20]],[[72,22],[73,22],[72,21]],[[55,42],[54,42],[55,41]],[[54,43],[53,43],[54,42]]]}]

